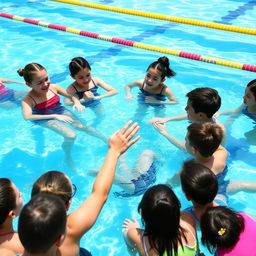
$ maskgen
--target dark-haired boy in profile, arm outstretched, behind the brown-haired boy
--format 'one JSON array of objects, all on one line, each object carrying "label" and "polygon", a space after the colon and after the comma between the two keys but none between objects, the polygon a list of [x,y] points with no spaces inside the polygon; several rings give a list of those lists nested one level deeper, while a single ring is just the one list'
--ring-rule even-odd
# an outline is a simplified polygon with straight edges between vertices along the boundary
[{"label": "dark-haired boy in profile, arm outstretched, behind the brown-haired boy", "polygon": [[213,115],[219,110],[221,106],[221,98],[215,89],[208,87],[196,88],[186,95],[188,97],[187,106],[185,108],[187,114],[174,116],[174,117],[155,117],[149,121],[155,128],[157,123],[166,123],[171,120],[184,120],[188,119],[190,122],[196,123],[213,123],[217,124],[223,130],[224,144],[226,139],[226,131],[223,124],[213,118]]}]

